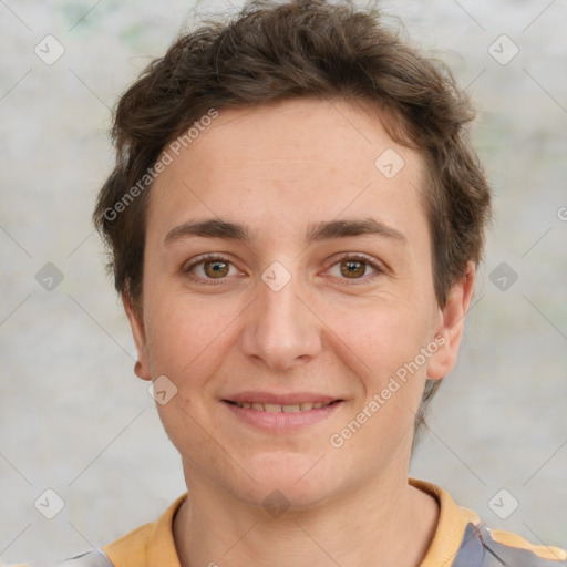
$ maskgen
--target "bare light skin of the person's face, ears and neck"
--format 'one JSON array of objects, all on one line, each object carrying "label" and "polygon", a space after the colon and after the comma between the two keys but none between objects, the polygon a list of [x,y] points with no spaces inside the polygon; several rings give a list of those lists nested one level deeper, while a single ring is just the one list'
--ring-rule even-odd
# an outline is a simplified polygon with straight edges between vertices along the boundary
[{"label": "bare light skin of the person's face, ears and neck", "polygon": [[[386,178],[386,148],[404,167]],[[188,499],[174,520],[184,567],[416,566],[439,506],[408,484],[415,412],[426,378],[453,369],[475,270],[435,299],[420,154],[394,143],[378,111],[342,100],[221,110],[158,176],[148,205],[143,296],[123,296],[144,379],[177,388],[158,405],[182,455]],[[166,235],[188,220],[246,225],[249,243]],[[312,223],[373,218],[401,233],[307,244]],[[230,264],[198,264],[215,252]],[[341,254],[365,255],[357,277]],[[274,291],[275,261],[291,275]],[[189,267],[189,269],[187,269]],[[207,268],[208,267],[208,268]],[[205,270],[207,268],[207,270]],[[207,279],[208,278],[208,279]],[[213,284],[208,284],[213,281]],[[444,344],[340,449],[329,439],[390,377]],[[302,431],[266,432],[220,400],[241,391],[320,392],[342,399]],[[262,501],[278,489],[279,517]]]}]

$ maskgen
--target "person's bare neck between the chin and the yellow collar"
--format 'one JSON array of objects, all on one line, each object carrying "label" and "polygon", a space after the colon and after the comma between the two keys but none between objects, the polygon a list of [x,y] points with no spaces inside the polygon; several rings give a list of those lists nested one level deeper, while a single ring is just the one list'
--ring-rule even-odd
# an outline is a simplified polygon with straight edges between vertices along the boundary
[{"label": "person's bare neck between the chin and the yellow collar", "polygon": [[174,520],[182,567],[416,567],[439,520],[437,502],[406,478],[381,480],[278,517],[195,483],[189,486]]}]

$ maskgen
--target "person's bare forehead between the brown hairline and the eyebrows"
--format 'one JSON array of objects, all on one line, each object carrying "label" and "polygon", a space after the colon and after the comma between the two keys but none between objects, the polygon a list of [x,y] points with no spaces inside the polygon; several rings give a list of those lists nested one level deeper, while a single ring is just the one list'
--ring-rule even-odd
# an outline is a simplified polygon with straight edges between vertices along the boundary
[{"label": "person's bare forehead between the brown hairline and the eyebrows", "polygon": [[189,209],[245,214],[252,227],[269,214],[274,228],[341,212],[393,223],[424,216],[422,157],[395,143],[371,106],[299,99],[220,110],[190,142],[165,151],[173,162],[152,189],[150,225],[185,221]]}]

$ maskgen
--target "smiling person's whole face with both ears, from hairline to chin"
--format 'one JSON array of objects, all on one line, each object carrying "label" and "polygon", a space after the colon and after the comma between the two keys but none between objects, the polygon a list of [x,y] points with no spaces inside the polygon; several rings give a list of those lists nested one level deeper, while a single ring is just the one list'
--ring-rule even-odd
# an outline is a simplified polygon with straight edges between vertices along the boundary
[{"label": "smiling person's whole face with both ears, from hairline to chin", "polygon": [[301,507],[405,480],[474,279],[439,307],[421,156],[375,111],[307,99],[220,111],[177,151],[124,299],[188,485]]}]

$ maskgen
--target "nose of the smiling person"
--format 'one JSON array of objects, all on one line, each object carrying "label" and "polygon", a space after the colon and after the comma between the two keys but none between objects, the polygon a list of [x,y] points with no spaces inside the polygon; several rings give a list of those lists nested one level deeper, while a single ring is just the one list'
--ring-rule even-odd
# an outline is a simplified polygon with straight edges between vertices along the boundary
[{"label": "nose of the smiling person", "polygon": [[321,352],[322,322],[296,278],[279,290],[266,281],[259,281],[258,296],[245,311],[243,352],[278,371],[305,364]]}]

